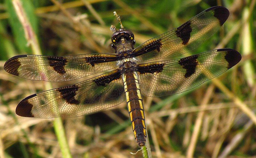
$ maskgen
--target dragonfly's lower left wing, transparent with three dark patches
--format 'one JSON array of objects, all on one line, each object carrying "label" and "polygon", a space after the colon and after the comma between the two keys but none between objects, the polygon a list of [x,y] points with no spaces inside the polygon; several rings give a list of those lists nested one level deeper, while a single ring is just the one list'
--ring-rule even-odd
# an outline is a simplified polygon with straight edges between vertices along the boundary
[{"label": "dragonfly's lower left wing, transparent with three dark patches", "polygon": [[119,70],[83,82],[31,95],[23,99],[16,114],[24,117],[76,117],[114,107],[124,101]]}]

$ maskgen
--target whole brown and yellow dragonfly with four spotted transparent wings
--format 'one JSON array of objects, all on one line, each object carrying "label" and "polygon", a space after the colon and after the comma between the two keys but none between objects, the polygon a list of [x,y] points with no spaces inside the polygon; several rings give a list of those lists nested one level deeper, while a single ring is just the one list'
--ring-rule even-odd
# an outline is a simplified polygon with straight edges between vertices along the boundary
[{"label": "whole brown and yellow dragonfly with four spotted transparent wings", "polygon": [[20,101],[16,114],[37,118],[77,117],[126,100],[135,140],[139,147],[145,146],[141,94],[160,97],[191,90],[241,60],[239,52],[228,48],[184,56],[216,33],[228,16],[225,7],[208,8],[137,48],[132,31],[115,28],[111,36],[115,53],[12,57],[4,64],[4,70],[29,80],[64,82],[95,75],[73,85],[30,95]]}]

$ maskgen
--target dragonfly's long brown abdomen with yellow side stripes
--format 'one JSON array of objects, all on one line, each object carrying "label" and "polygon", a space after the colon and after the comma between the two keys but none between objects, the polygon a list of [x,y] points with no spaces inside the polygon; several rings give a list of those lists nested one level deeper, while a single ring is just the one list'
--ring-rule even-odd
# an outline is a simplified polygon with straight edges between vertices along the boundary
[{"label": "dragonfly's long brown abdomen with yellow side stripes", "polygon": [[138,76],[136,72],[125,72],[123,74],[123,81],[134,137],[139,146],[144,146],[147,135]]}]

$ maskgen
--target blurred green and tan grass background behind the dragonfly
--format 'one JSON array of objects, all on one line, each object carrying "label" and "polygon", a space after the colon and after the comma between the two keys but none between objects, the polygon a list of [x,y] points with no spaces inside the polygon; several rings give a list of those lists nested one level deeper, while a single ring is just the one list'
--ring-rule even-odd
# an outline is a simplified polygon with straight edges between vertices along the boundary
[{"label": "blurred green and tan grass background behind the dragonfly", "polygon": [[[109,52],[116,11],[137,45],[176,28],[203,10],[222,5],[224,27],[193,53],[232,48],[240,63],[218,79],[178,95],[143,97],[153,157],[255,157],[255,0],[21,0],[43,55]],[[15,114],[28,95],[46,90],[43,81],[6,73],[4,62],[20,54],[40,54],[28,46],[11,0],[0,0],[0,157],[63,155],[53,119]],[[52,83],[53,88],[74,84]],[[126,103],[77,118],[62,118],[73,157],[141,157]],[[254,121],[253,121],[254,120]],[[55,129],[56,130],[56,129]],[[60,145],[59,145],[60,144]],[[67,150],[68,150],[67,148]]]}]

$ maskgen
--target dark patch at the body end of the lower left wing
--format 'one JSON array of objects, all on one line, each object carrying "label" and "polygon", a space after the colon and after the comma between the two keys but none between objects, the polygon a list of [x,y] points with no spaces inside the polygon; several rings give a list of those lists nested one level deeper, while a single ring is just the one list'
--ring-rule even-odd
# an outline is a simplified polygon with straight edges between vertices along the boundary
[{"label": "dark patch at the body end of the lower left wing", "polygon": [[122,74],[122,71],[118,70],[113,74],[97,78],[93,80],[93,82],[95,82],[97,86],[107,86],[107,84],[112,82],[113,80],[120,79]]}]

